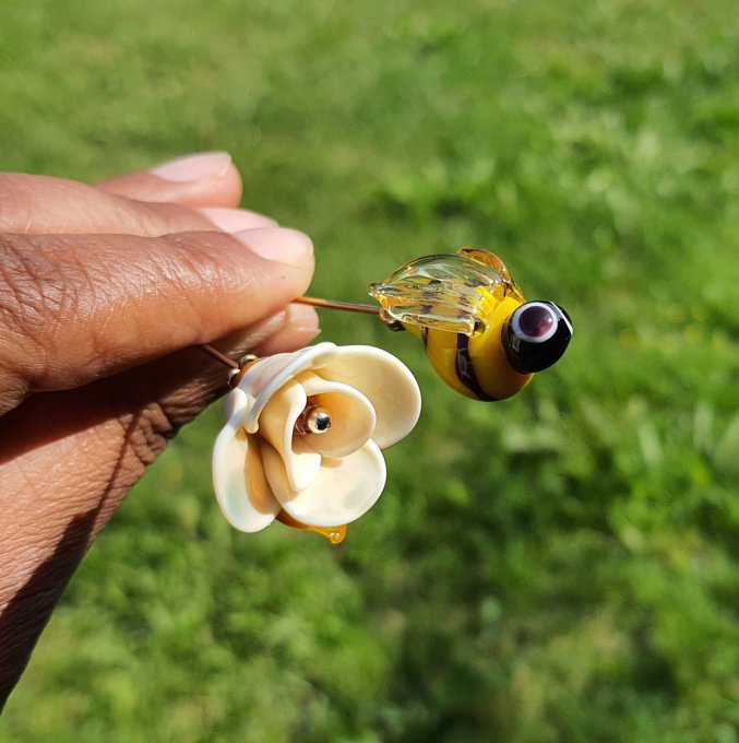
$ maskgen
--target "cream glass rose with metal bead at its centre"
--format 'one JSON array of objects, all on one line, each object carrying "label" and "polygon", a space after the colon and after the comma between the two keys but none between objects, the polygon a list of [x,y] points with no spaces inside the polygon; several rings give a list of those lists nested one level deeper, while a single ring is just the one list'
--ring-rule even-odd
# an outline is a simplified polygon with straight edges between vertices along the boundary
[{"label": "cream glass rose with metal bead at its centre", "polygon": [[420,414],[420,392],[394,356],[320,343],[249,364],[226,398],[213,452],[216,498],[246,532],[279,519],[343,539],[385,484],[386,449]]}]

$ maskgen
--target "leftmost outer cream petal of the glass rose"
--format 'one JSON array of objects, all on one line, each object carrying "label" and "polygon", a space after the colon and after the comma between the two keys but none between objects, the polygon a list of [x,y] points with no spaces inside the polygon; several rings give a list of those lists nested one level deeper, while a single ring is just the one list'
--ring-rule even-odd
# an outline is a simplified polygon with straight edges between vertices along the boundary
[{"label": "leftmost outer cream petal of the glass rose", "polygon": [[249,436],[241,421],[253,399],[241,390],[229,394],[231,413],[213,448],[213,487],[226,519],[240,531],[269,527],[281,505],[267,483],[259,443]]}]

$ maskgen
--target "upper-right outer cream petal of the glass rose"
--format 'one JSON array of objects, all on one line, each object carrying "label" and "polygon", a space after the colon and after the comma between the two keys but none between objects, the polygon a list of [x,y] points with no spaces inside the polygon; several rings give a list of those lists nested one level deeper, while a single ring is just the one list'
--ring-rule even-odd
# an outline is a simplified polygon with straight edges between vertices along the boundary
[{"label": "upper-right outer cream petal of the glass rose", "polygon": [[372,439],[381,449],[405,438],[418,422],[418,382],[403,362],[370,345],[344,345],[318,370],[327,380],[354,387],[369,401],[378,423]]}]

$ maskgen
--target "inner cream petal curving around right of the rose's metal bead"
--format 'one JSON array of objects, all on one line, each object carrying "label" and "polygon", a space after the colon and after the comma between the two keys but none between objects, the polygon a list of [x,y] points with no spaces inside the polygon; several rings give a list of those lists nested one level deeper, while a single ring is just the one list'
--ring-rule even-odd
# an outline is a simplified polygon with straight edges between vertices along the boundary
[{"label": "inner cream petal curving around right of the rose's metal bead", "polygon": [[372,436],[377,415],[361,392],[342,382],[327,381],[314,371],[298,375],[296,381],[300,382],[311,402],[325,408],[331,415],[329,431],[302,439],[308,447],[330,459],[338,459],[356,451]]}]

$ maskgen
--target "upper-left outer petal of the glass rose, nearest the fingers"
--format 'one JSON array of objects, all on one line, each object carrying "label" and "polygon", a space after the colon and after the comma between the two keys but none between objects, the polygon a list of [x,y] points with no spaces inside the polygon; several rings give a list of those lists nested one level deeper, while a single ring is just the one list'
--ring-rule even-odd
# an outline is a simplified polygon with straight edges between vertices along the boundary
[{"label": "upper-left outer petal of the glass rose, nearest the fingers", "polygon": [[250,434],[259,429],[259,416],[270,398],[300,371],[324,366],[336,352],[334,343],[318,343],[294,353],[279,353],[254,362],[239,381],[237,389],[254,398],[243,427]]}]

